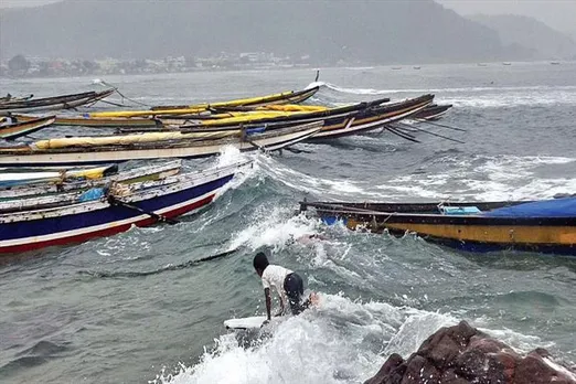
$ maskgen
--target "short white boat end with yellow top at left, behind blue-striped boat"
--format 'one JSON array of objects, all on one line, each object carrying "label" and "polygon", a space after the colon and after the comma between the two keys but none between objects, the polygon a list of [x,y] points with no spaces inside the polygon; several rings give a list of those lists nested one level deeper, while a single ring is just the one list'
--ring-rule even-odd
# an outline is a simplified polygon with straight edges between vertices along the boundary
[{"label": "short white boat end with yellow top at left, behind blue-striped boat", "polygon": [[15,171],[11,172],[0,172],[0,189],[26,184],[62,183],[72,180],[102,179],[116,172],[118,172],[118,166],[89,169],[64,169],[61,171],[22,171],[17,169]]}]

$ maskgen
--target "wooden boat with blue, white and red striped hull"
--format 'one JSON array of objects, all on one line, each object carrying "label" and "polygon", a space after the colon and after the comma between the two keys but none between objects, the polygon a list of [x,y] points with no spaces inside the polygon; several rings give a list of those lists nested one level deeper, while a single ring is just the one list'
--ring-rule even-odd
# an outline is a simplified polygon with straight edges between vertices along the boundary
[{"label": "wooden boat with blue, white and red striped hull", "polygon": [[178,182],[124,194],[110,186],[102,198],[64,206],[0,213],[0,253],[21,253],[148,226],[194,212],[247,167],[246,162],[191,172]]}]

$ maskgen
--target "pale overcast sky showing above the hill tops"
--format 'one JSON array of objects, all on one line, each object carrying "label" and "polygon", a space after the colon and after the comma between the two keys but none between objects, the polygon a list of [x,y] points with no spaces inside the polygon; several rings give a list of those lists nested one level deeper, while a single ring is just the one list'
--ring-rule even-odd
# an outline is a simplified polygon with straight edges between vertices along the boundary
[{"label": "pale overcast sky showing above the hill tops", "polygon": [[[0,0],[0,7],[34,7],[60,0]],[[97,1],[97,0],[76,0]],[[99,0],[105,1],[105,0]],[[114,1],[114,0],[107,0]],[[116,0],[121,1],[121,0]],[[189,0],[202,1],[202,0]],[[297,1],[297,0],[292,0]],[[342,1],[342,0],[332,0]],[[422,1],[422,0],[381,0],[381,1]],[[576,34],[576,0],[436,0],[446,8],[460,14],[522,14],[536,18],[550,26]]]}]

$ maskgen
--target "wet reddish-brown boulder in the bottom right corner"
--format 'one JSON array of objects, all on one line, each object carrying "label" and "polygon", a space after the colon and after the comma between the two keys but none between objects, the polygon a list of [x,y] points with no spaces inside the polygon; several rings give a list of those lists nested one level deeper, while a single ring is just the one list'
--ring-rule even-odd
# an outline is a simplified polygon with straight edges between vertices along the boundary
[{"label": "wet reddish-brown boulder in the bottom right corner", "polygon": [[576,384],[544,349],[522,356],[466,321],[441,328],[406,361],[392,354],[364,384]]}]

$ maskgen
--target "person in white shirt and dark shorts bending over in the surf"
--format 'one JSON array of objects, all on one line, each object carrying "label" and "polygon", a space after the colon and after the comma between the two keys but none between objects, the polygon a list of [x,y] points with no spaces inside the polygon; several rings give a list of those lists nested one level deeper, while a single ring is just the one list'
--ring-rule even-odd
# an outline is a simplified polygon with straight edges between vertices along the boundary
[{"label": "person in white shirt and dark shorts bending over in the surf", "polygon": [[262,252],[254,257],[254,269],[262,278],[264,286],[264,295],[266,297],[266,314],[268,320],[271,316],[271,298],[270,288],[274,287],[280,298],[280,311],[276,316],[285,313],[286,301],[290,305],[292,314],[299,314],[301,311],[310,306],[310,299],[303,303],[303,281],[302,278],[295,271],[281,267],[279,265],[271,265],[268,258]]}]

